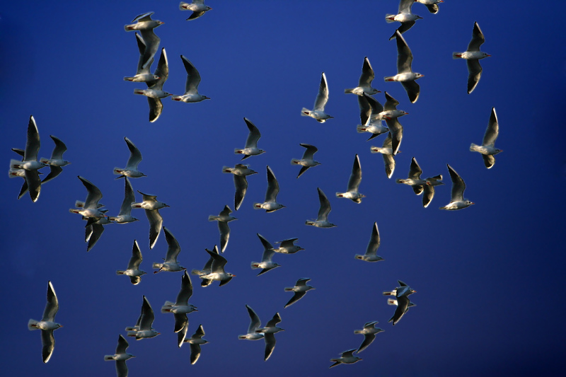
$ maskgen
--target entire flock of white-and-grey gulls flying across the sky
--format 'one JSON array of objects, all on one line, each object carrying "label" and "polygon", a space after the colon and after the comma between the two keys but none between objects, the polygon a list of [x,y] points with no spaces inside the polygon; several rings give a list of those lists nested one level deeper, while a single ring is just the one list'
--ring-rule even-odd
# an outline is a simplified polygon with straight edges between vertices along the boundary
[{"label": "entire flock of white-and-grey gulls flying across the sky", "polygon": [[[397,42],[397,74],[395,74],[395,76],[385,77],[385,81],[400,82],[403,85],[403,88],[405,88],[411,103],[415,103],[415,101],[419,98],[420,86],[415,81],[423,75],[412,71],[412,53],[402,34],[410,30],[412,25],[415,24],[415,21],[421,18],[411,11],[412,5],[415,1],[426,5],[431,13],[437,13],[439,10],[438,4],[443,2],[442,0],[401,0],[398,13],[396,15],[386,16],[387,22],[396,21],[401,25],[397,30],[395,30],[395,33],[391,37],[391,39],[395,38]],[[195,0],[190,4],[181,3],[180,9],[192,11],[191,16],[187,18],[187,20],[194,20],[202,16],[211,8],[205,6],[202,0]],[[181,59],[187,71],[187,81],[185,85],[185,93],[183,95],[172,95],[163,91],[163,83],[165,83],[168,77],[168,62],[165,49],[161,49],[161,56],[158,59],[157,68],[154,71],[154,74],[151,74],[151,64],[154,61],[154,56],[158,51],[158,45],[160,42],[159,37],[157,37],[154,33],[154,28],[163,24],[161,21],[152,20],[152,14],[153,12],[141,14],[134,18],[131,25],[125,26],[125,30],[127,31],[138,30],[139,33],[141,33],[141,35],[137,33],[135,34],[139,49],[139,61],[137,64],[136,75],[132,77],[125,77],[125,80],[144,82],[147,84],[147,89],[136,89],[134,93],[146,95],[150,109],[149,120],[150,122],[155,122],[163,110],[163,104],[161,103],[162,98],[172,96],[173,100],[185,103],[200,102],[209,98],[198,93],[198,86],[201,81],[200,74],[190,60],[183,55],[181,55]],[[479,60],[490,56],[485,52],[480,51],[480,45],[483,44],[484,40],[483,33],[481,32],[478,23],[475,23],[473,26],[473,37],[468,45],[468,50],[466,50],[466,52],[454,52],[453,54],[454,59],[466,59],[468,64],[468,93],[472,93],[480,80],[482,69]],[[345,89],[345,93],[357,95],[357,99],[359,101],[360,120],[362,124],[357,127],[357,132],[368,132],[371,134],[368,140],[374,139],[380,134],[387,134],[383,141],[383,145],[381,147],[371,146],[371,152],[381,153],[383,155],[386,176],[387,178],[391,178],[393,170],[395,169],[394,156],[400,152],[399,147],[403,137],[403,127],[399,122],[399,118],[408,113],[403,110],[398,110],[398,100],[395,100],[395,98],[387,92],[385,92],[386,103],[381,105],[381,103],[373,97],[373,95],[379,93],[376,88],[371,87],[373,79],[374,70],[371,67],[369,59],[365,57],[362,65],[362,75],[359,79],[359,85],[356,88]],[[320,87],[313,110],[303,108],[301,110],[301,115],[313,117],[317,122],[325,122],[326,120],[332,119],[333,117],[325,112],[325,105],[328,102],[328,93],[328,83],[326,76],[323,73],[320,79]],[[244,117],[243,120],[246,122],[246,126],[248,127],[248,137],[246,139],[245,147],[243,149],[235,149],[234,152],[236,154],[243,155],[242,160],[245,160],[250,156],[258,156],[265,151],[258,148],[258,141],[261,137],[258,127],[256,127],[255,124],[246,117]],[[386,126],[383,125],[383,121],[385,121]],[[495,163],[495,154],[501,151],[495,148],[495,140],[497,139],[498,133],[499,127],[497,115],[495,108],[492,108],[490,120],[483,137],[483,143],[481,145],[471,144],[470,146],[470,151],[481,153],[486,168],[492,168]],[[37,201],[40,196],[42,184],[56,178],[57,175],[62,173],[62,168],[70,163],[63,158],[63,153],[67,151],[67,146],[65,146],[64,142],[54,136],[51,136],[51,139],[55,144],[51,158],[40,158],[38,160],[40,136],[35,119],[33,116],[30,117],[25,149],[13,149],[13,151],[22,156],[22,159],[11,160],[10,170],[8,173],[10,178],[21,177],[24,180],[18,199],[23,197],[26,192],[29,192],[32,201]],[[197,330],[191,337],[186,336],[189,327],[187,314],[197,311],[197,307],[188,302],[192,296],[193,288],[187,268],[180,265],[177,260],[181,250],[180,245],[175,236],[173,236],[173,233],[163,226],[163,217],[159,212],[160,209],[164,209],[169,206],[168,204],[158,201],[156,199],[156,195],[148,195],[139,191],[139,194],[142,196],[142,201],[136,202],[134,190],[129,179],[141,178],[146,175],[141,173],[138,169],[139,163],[142,160],[141,152],[127,137],[125,137],[125,142],[129,149],[127,164],[125,168],[115,168],[113,170],[113,173],[118,175],[116,179],[124,178],[125,180],[125,196],[117,216],[108,216],[108,210],[104,209],[105,206],[99,202],[103,195],[98,187],[80,175],[79,180],[81,180],[87,190],[86,199],[84,202],[79,200],[76,201],[76,208],[70,209],[69,211],[71,211],[71,213],[80,214],[82,219],[86,221],[85,241],[87,243],[87,251],[91,250],[91,248],[96,245],[96,242],[103,234],[105,225],[112,223],[127,224],[138,221],[139,219],[132,216],[132,209],[141,208],[145,210],[146,217],[149,221],[150,249],[154,248],[158,236],[163,230],[168,244],[168,249],[163,262],[155,262],[152,265],[155,269],[154,274],[158,272],[183,272],[183,277],[181,279],[180,291],[175,302],[166,301],[161,308],[161,312],[173,313],[175,318],[174,332],[178,334],[178,347],[181,347],[183,343],[190,344],[190,362],[191,364],[194,364],[199,359],[201,352],[200,346],[202,344],[206,344],[207,340],[203,339],[205,333],[202,325],[197,327]],[[296,178],[300,178],[301,175],[304,175],[309,168],[320,165],[320,163],[315,161],[313,158],[314,154],[318,151],[316,146],[311,144],[300,145],[305,148],[304,155],[301,159],[294,158],[291,160],[291,164],[301,166]],[[50,167],[50,173],[41,180],[40,169],[47,166]],[[447,165],[447,168],[452,182],[451,201],[444,207],[440,207],[440,209],[457,210],[474,204],[463,197],[463,192],[466,188],[463,179],[450,165]],[[267,166],[266,170],[267,190],[265,193],[265,201],[262,203],[254,203],[253,207],[255,209],[265,209],[266,212],[277,211],[278,209],[285,207],[283,204],[277,202],[279,183],[277,182],[277,178],[270,166]],[[246,177],[248,175],[256,174],[257,172],[250,169],[248,165],[244,165],[243,163],[236,163],[233,168],[224,166],[222,168],[222,172],[231,173],[233,175],[235,186],[234,208],[237,211],[240,208],[243,199],[246,196],[246,190],[248,189],[248,181]],[[430,178],[421,178],[421,175],[422,170],[417,163],[417,160],[413,157],[410,164],[408,178],[397,179],[396,182],[409,185],[412,187],[412,190],[416,195],[422,195],[422,205],[423,207],[427,207],[434,197],[434,187],[437,185],[443,185],[444,183],[442,182],[442,175],[434,175]],[[347,198],[358,204],[361,203],[362,198],[365,197],[365,195],[359,192],[359,185],[361,181],[362,168],[359,156],[356,154],[352,166],[352,173],[347,183],[347,190],[345,192],[337,192],[336,197]],[[330,201],[320,188],[318,188],[318,198],[320,200],[318,216],[316,220],[307,220],[306,225],[316,226],[318,228],[332,228],[336,226],[328,220],[328,216],[331,211]],[[232,209],[228,205],[225,205],[224,209],[222,209],[217,216],[209,216],[209,221],[218,222],[220,248],[217,248],[215,245],[213,250],[206,249],[206,252],[209,255],[207,263],[202,269],[192,269],[191,274],[200,278],[201,286],[209,286],[213,282],[219,282],[219,286],[222,286],[224,284],[228,284],[231,279],[236,276],[225,271],[224,267],[227,260],[223,256],[223,253],[229,243],[229,221],[236,220],[236,217],[231,215],[232,212]],[[257,233],[257,236],[262,243],[263,254],[260,262],[251,263],[251,268],[260,269],[258,276],[265,274],[271,269],[279,267],[279,265],[272,260],[276,253],[294,254],[298,253],[300,250],[304,250],[304,248],[301,248],[299,245],[295,245],[297,238],[279,241],[279,247],[275,248],[274,245],[272,245],[272,243],[270,243],[262,235]],[[377,223],[374,223],[372,226],[369,244],[366,248],[366,253],[364,255],[355,255],[355,257],[365,262],[379,262],[383,260],[383,258],[376,253],[379,245],[379,230]],[[118,270],[117,274],[126,275],[129,277],[132,284],[139,284],[141,282],[141,277],[146,274],[146,272],[139,269],[141,261],[141,251],[137,241],[134,240],[132,257],[129,260],[127,269]],[[296,303],[296,301],[303,298],[309,290],[314,289],[313,286],[309,286],[307,284],[309,280],[309,278],[298,279],[295,286],[284,289],[285,291],[293,292],[293,296],[284,305],[284,308]],[[392,322],[393,325],[403,318],[403,315],[407,313],[411,306],[415,305],[409,299],[410,294],[413,293],[415,293],[415,290],[401,281],[398,281],[398,286],[393,290],[383,292],[384,295],[393,297],[388,299],[388,304],[395,306],[393,316],[389,320],[389,322]],[[246,308],[250,315],[250,325],[248,327],[248,332],[245,335],[240,335],[238,338],[241,340],[263,339],[265,341],[264,360],[267,361],[275,349],[275,334],[283,330],[281,327],[277,326],[282,319],[279,313],[275,313],[275,315],[267,322],[265,327],[261,327],[260,318],[255,311],[253,311],[253,308],[248,305],[246,305]],[[39,329],[42,332],[42,359],[45,363],[50,360],[54,350],[53,331],[62,327],[62,325],[55,322],[55,315],[57,314],[58,309],[59,303],[57,301],[57,295],[55,294],[52,283],[48,282],[47,305],[45,306],[42,319],[40,321],[29,320],[28,323],[28,328],[30,330]],[[137,319],[137,323],[132,327],[126,328],[127,336],[135,337],[136,340],[140,340],[159,335],[160,333],[151,327],[153,322],[154,311],[146,296],[143,296],[141,313]],[[359,356],[354,356],[354,352],[359,354],[369,347],[371,342],[374,341],[376,334],[383,331],[381,328],[376,327],[376,324],[377,321],[370,321],[364,325],[362,330],[355,330],[355,334],[364,335],[362,344],[360,344],[357,349],[349,349],[342,352],[339,358],[331,359],[334,364],[330,367],[337,366],[339,364],[352,364],[362,360]],[[119,335],[115,354],[104,356],[105,360],[116,361],[116,371],[117,376],[119,377],[127,376],[128,371],[126,360],[134,357],[134,355],[127,353],[127,347],[128,342],[126,338]]]}]

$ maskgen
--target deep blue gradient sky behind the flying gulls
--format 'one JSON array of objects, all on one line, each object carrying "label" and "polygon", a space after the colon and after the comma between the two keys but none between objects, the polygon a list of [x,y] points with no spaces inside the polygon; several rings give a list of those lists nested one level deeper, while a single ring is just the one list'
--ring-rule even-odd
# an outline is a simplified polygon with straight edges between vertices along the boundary
[{"label": "deep blue gradient sky behind the flying gulls", "polygon": [[[69,150],[72,162],[62,175],[42,187],[40,199],[17,200],[20,178],[0,185],[3,294],[0,354],[3,369],[20,376],[113,376],[113,363],[103,361],[116,347],[117,335],[134,325],[146,295],[156,312],[161,335],[139,342],[129,338],[130,376],[156,373],[229,373],[231,376],[558,376],[565,370],[566,327],[560,321],[565,304],[564,185],[566,153],[564,119],[566,59],[562,25],[548,20],[555,6],[512,1],[452,1],[436,15],[421,4],[423,17],[405,33],[414,55],[417,103],[408,101],[399,83],[384,83],[395,74],[396,47],[388,37],[398,26],[388,24],[398,1],[210,1],[202,18],[185,21],[178,1],[8,2],[0,6],[1,105],[0,150],[25,146],[30,115],[35,117],[49,157],[53,134]],[[558,5],[560,4],[560,5]],[[134,33],[124,25],[134,16],[154,11],[165,22],[156,29],[165,47],[170,75],[164,89],[181,94],[185,87],[183,54],[200,71],[200,93],[212,100],[175,103],[163,100],[163,114],[149,123],[146,98],[134,95],[144,83],[122,81],[135,72],[138,52]],[[467,70],[451,53],[466,50],[473,23],[485,34],[483,76],[466,93]],[[359,110],[354,95],[364,57],[376,72],[374,87],[388,91],[410,114],[393,178],[386,178],[381,155],[384,135],[366,142],[358,134]],[[155,64],[152,67],[154,70]],[[319,124],[301,117],[311,108],[325,72],[330,88],[326,110],[335,119]],[[383,93],[375,96],[384,102]],[[497,144],[504,152],[487,170],[470,143],[483,138],[492,107],[499,117]],[[187,345],[178,349],[173,315],[159,313],[174,301],[181,273],[151,274],[151,263],[166,253],[163,235],[149,250],[148,224],[110,225],[86,253],[83,221],[69,214],[86,190],[76,178],[91,180],[103,192],[110,215],[119,211],[124,182],[112,168],[125,166],[124,137],[144,156],[139,168],[147,178],[132,180],[134,190],[158,195],[171,205],[164,224],[182,248],[178,260],[201,268],[204,248],[219,243],[216,223],[207,221],[225,204],[233,208],[233,180],[221,173],[239,157],[248,117],[260,129],[259,146],[267,153],[246,160],[259,174],[230,223],[232,234],[224,256],[226,270],[237,276],[226,286],[200,287],[190,302],[188,334],[202,324],[209,344],[191,366]],[[299,143],[318,146],[321,166],[298,180]],[[337,199],[359,153],[363,178],[362,204]],[[427,209],[405,178],[415,156],[425,177],[442,174],[447,185]],[[466,181],[466,197],[476,204],[461,211],[440,211],[450,200],[449,163]],[[279,202],[287,208],[271,214],[252,208],[265,196],[265,166],[279,180]],[[333,207],[337,228],[304,225],[316,218],[320,187]],[[141,196],[137,194],[137,199]],[[354,259],[364,253],[371,226],[381,233],[383,262]],[[306,248],[295,255],[275,255],[282,267],[256,277],[250,262],[260,260],[262,245],[255,233],[272,243],[298,237]],[[133,286],[125,269],[137,239],[149,274]],[[316,290],[283,308],[284,292],[296,279],[310,277]],[[381,292],[401,279],[417,294],[417,304],[395,325],[387,323],[394,308]],[[38,332],[26,328],[40,319],[51,280],[60,309],[52,359],[42,363]],[[262,341],[238,340],[246,332],[250,305],[266,323],[279,312],[286,331],[263,361]],[[385,332],[359,356],[357,364],[328,370],[330,358],[357,348],[354,330],[379,320]],[[17,372],[16,372],[17,371]],[[180,372],[181,371],[181,372]]]}]

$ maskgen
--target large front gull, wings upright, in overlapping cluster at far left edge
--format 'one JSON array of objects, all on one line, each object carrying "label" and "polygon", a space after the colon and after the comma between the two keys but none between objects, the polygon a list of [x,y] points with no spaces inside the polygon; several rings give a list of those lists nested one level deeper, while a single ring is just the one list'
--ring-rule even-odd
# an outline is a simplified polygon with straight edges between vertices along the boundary
[{"label": "large front gull, wings upright, in overlapping cluster at far left edge", "polygon": [[[37,161],[37,153],[40,151],[40,134],[37,131],[37,124],[33,115],[30,115],[28,122],[28,137],[25,141],[25,151],[22,161],[12,159],[10,161],[10,169],[23,169],[25,183],[28,186],[32,202],[37,202],[41,192],[41,179],[39,172],[40,168],[47,166],[47,163]],[[22,187],[23,191],[23,187]],[[18,198],[19,199],[19,198]]]}]

